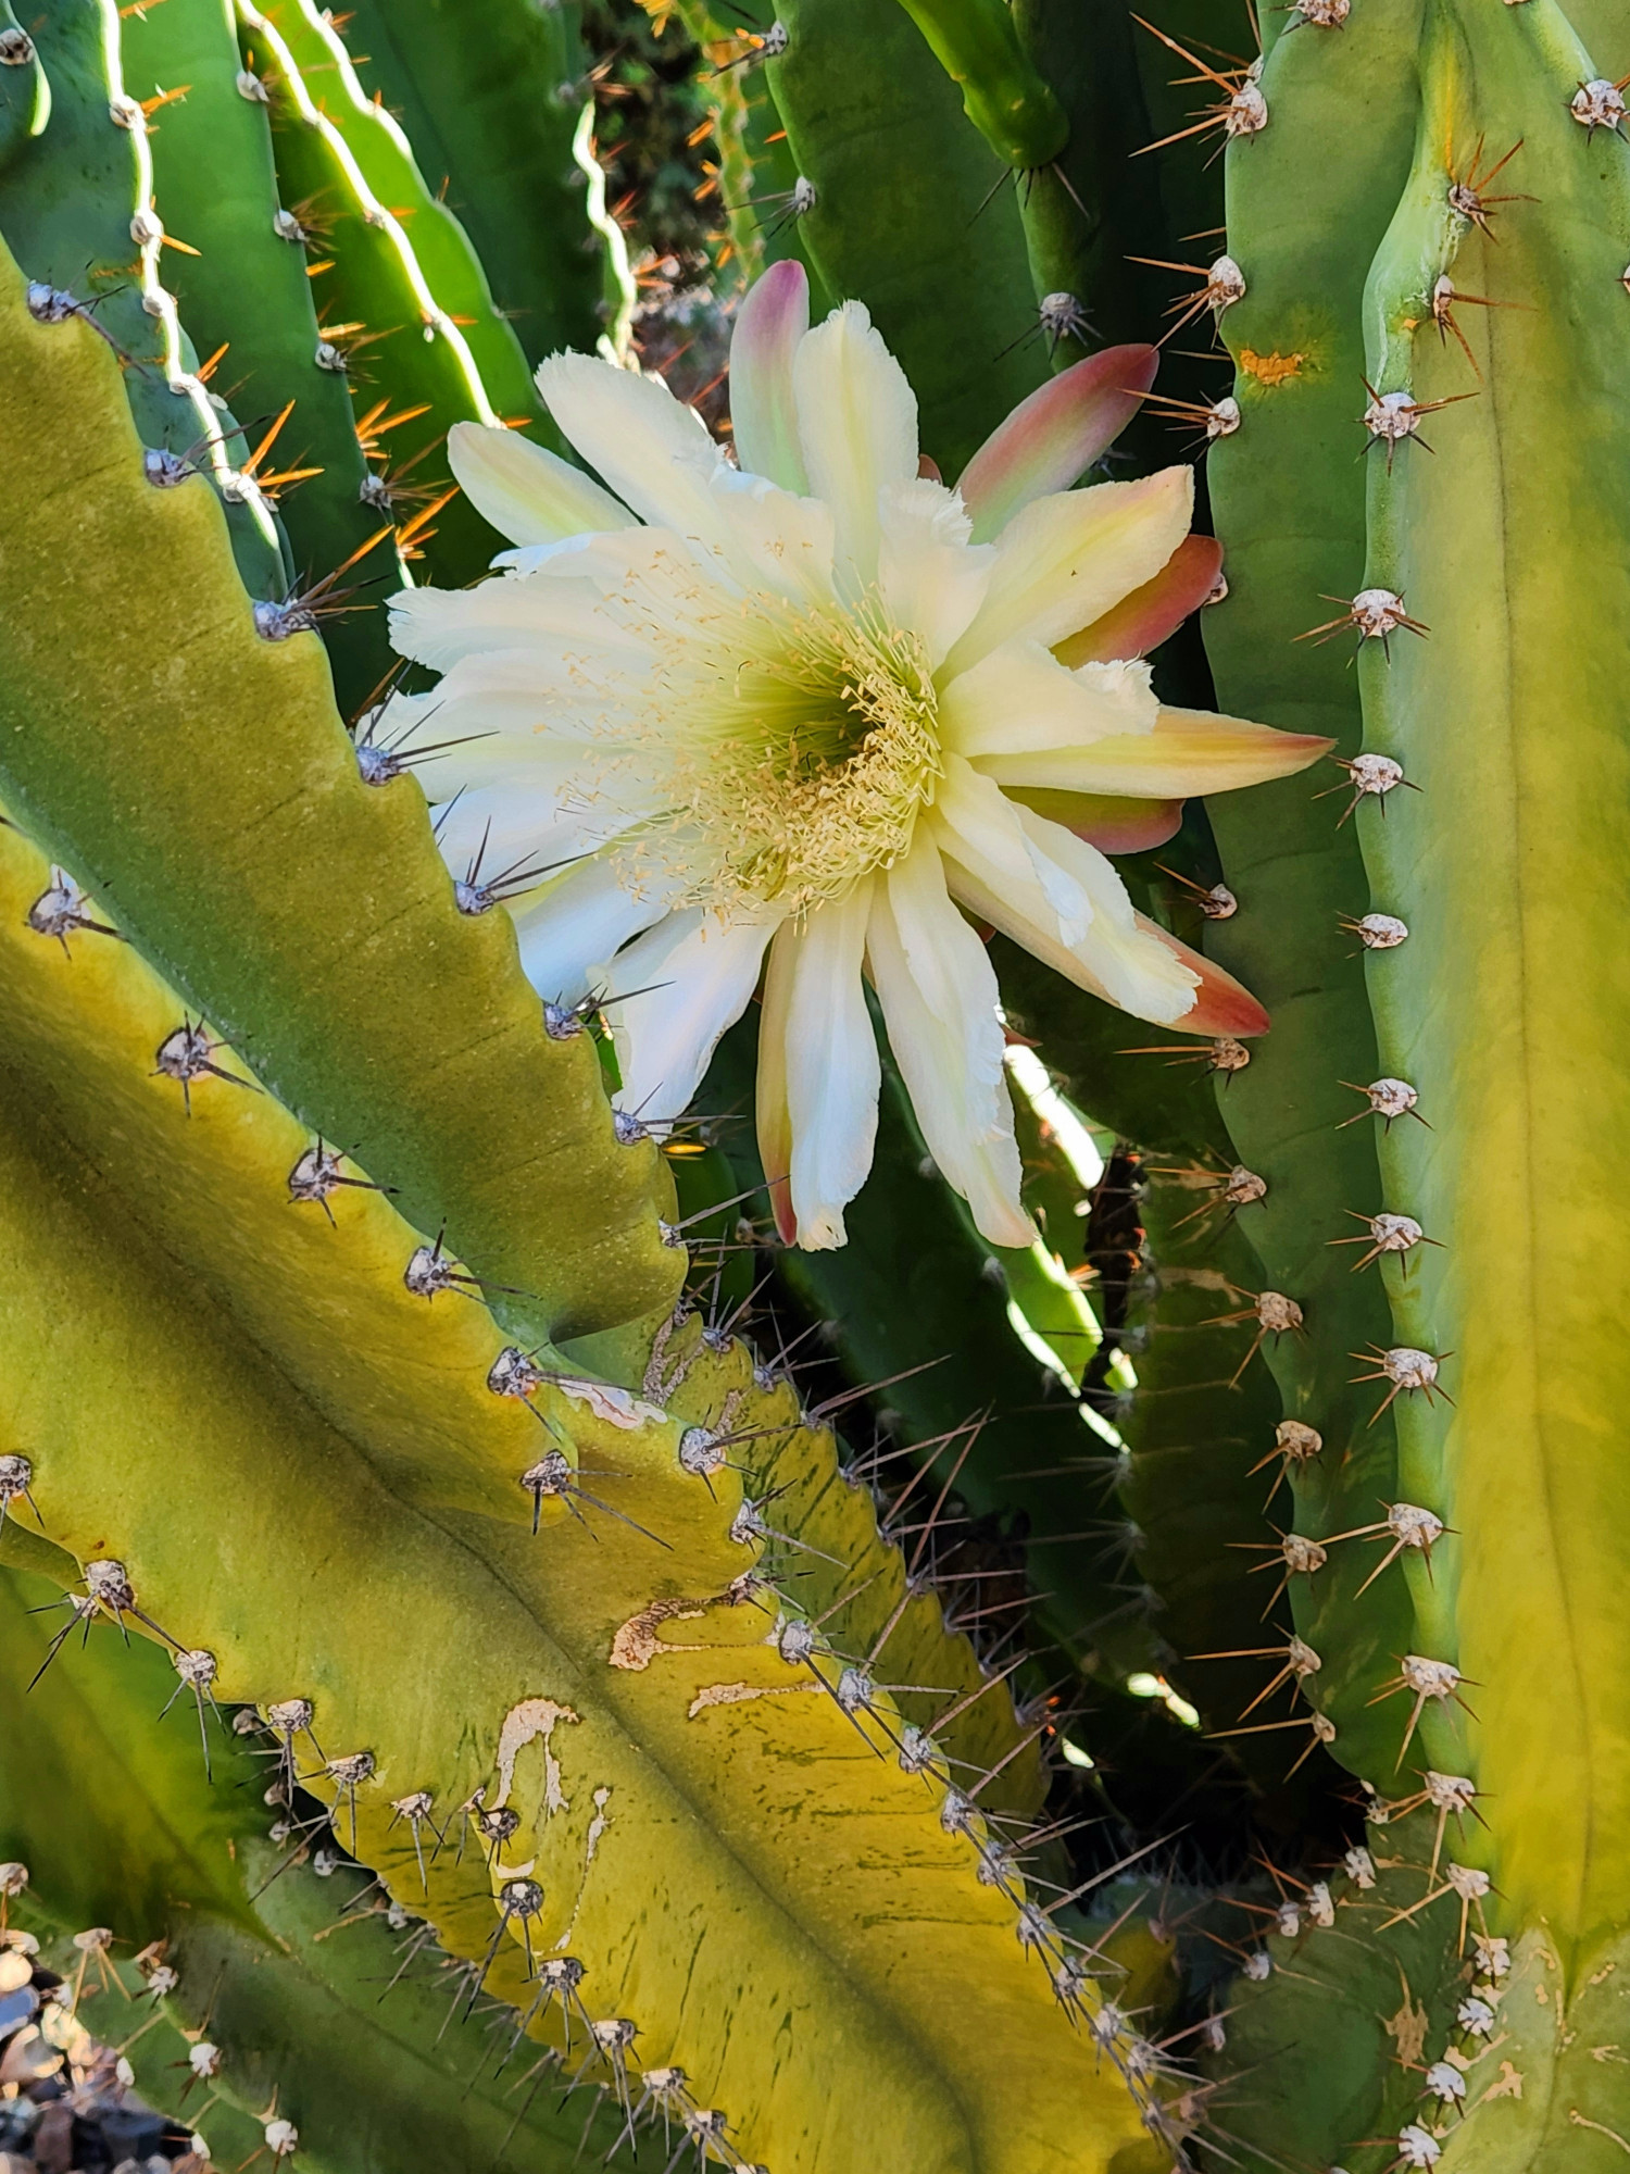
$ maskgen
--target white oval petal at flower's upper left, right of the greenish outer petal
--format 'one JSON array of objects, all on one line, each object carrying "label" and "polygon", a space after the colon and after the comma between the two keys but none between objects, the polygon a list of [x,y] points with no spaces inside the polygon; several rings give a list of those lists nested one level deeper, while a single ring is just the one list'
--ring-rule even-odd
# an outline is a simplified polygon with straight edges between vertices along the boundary
[{"label": "white oval petal at flower's upper left, right of the greenish outer petal", "polygon": [[550,354],[537,389],[572,448],[641,520],[687,537],[715,533],[709,476],[724,454],[661,378],[593,354]]}]

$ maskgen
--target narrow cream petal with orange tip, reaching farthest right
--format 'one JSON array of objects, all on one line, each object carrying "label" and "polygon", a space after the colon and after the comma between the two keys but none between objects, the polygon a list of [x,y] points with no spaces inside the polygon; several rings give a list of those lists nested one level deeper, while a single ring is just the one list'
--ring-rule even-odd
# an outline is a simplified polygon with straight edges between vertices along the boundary
[{"label": "narrow cream petal with orange tip, reaching farthest right", "polygon": [[1208,709],[1163,709],[1152,733],[1095,739],[1084,748],[991,754],[980,770],[998,785],[1048,785],[1065,794],[1189,798],[1289,778],[1328,754],[1317,733],[1217,717]]}]

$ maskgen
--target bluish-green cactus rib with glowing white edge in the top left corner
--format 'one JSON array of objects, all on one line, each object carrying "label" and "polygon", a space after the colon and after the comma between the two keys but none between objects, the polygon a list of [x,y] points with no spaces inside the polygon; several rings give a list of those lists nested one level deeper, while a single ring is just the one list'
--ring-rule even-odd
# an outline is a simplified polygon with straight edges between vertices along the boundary
[{"label": "bluish-green cactus rib with glowing white edge in the top left corner", "polygon": [[[141,443],[167,463],[156,480],[187,467],[206,474],[226,507],[246,589],[280,598],[289,570],[276,517],[243,474],[237,422],[198,378],[198,357],[163,283],[152,130],[124,87],[120,28],[115,0],[50,0],[30,20],[50,117],[41,122],[35,104],[37,128],[0,174],[0,237],[46,289],[41,311],[80,304],[126,359]],[[28,83],[20,70],[17,87]]]}]

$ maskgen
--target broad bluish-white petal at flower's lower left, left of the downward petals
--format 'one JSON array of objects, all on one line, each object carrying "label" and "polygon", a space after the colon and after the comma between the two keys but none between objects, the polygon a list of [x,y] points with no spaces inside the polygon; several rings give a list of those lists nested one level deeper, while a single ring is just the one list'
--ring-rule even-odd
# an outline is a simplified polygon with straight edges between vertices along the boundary
[{"label": "broad bluish-white petal at flower's lower left, left of the downward petals", "polygon": [[617,1109],[645,1124],[682,1115],[719,1035],[748,1009],[772,935],[772,920],[722,922],[685,907],[602,967],[595,978],[630,991],[606,1004],[622,1065]]}]

